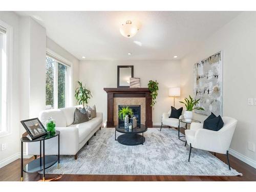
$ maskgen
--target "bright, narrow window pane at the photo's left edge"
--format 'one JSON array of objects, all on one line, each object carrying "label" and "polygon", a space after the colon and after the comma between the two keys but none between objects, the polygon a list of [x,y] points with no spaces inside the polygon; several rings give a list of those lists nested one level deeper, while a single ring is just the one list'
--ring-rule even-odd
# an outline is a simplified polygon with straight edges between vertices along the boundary
[{"label": "bright, narrow window pane at the photo's left edge", "polygon": [[0,132],[7,131],[7,35],[0,26]]}]

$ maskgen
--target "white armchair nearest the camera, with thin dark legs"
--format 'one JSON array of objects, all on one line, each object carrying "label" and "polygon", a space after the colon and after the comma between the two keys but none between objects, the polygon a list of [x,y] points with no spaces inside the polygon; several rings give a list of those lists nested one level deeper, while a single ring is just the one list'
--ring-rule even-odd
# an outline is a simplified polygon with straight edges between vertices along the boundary
[{"label": "white armchair nearest the camera, with thin dark legs", "polygon": [[188,162],[191,148],[199,148],[200,150],[226,154],[228,168],[230,169],[228,149],[238,121],[231,117],[223,117],[222,120],[224,125],[219,131],[203,129],[203,123],[195,122],[191,123],[190,130],[185,130],[186,143],[190,146]]}]

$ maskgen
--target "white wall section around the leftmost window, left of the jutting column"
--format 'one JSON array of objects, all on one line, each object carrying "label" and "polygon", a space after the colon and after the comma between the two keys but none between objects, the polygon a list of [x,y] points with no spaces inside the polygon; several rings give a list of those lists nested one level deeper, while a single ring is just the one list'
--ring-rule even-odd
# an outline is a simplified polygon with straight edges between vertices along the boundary
[{"label": "white wall section around the leftmost window, left of the jutting column", "polygon": [[0,11],[0,20],[13,27],[13,63],[12,63],[12,131],[8,136],[0,137],[0,144],[6,143],[7,149],[0,152],[0,167],[17,158],[19,151],[19,18],[10,11]]}]

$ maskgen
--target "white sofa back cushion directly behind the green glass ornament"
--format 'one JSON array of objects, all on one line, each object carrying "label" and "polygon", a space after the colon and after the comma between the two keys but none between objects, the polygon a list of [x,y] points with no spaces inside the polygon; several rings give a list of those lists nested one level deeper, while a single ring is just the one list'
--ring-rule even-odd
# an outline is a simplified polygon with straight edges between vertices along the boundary
[{"label": "white sofa back cushion directly behind the green glass ornament", "polygon": [[65,127],[67,126],[67,121],[66,117],[63,113],[63,111],[57,109],[52,109],[52,110],[44,110],[39,113],[39,119],[42,122],[43,125],[45,125],[45,122],[49,118],[53,118],[55,120],[56,127]]}]

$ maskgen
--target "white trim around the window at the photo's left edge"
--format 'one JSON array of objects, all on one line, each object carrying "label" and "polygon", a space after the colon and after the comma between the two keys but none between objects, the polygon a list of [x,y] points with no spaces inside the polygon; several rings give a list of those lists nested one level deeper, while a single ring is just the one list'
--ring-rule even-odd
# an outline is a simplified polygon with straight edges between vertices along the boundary
[{"label": "white trim around the window at the photo's left edge", "polygon": [[12,134],[12,65],[13,65],[13,27],[0,20],[0,25],[6,28],[7,35],[7,96],[6,96],[6,113],[7,122],[6,130],[0,131],[0,137],[6,137]]}]

